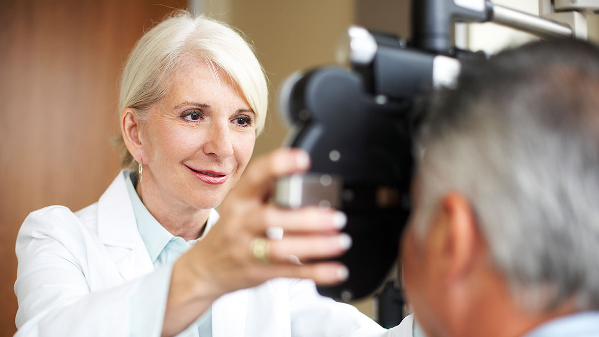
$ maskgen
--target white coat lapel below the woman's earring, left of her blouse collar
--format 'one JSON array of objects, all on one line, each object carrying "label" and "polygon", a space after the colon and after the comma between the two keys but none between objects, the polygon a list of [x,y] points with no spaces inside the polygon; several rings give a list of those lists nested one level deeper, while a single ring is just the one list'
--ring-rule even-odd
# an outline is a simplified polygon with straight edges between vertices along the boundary
[{"label": "white coat lapel below the woman's earring, left of her blouse collar", "polygon": [[125,174],[129,171],[120,171],[98,200],[98,237],[119,273],[131,280],[152,272],[154,266],[137,230]]}]

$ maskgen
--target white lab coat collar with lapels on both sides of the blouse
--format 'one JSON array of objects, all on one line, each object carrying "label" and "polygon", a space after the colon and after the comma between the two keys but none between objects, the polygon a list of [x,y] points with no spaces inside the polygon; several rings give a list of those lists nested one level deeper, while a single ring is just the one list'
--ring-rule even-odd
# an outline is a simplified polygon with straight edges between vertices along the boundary
[{"label": "white lab coat collar with lapels on both sides of the blouse", "polygon": [[[152,259],[141,239],[135,222],[135,213],[125,182],[128,170],[119,175],[108,186],[98,200],[98,237],[111,255],[120,274],[126,280],[146,275],[154,270]],[[210,227],[218,214],[210,214]],[[123,248],[126,252],[123,254]],[[242,289],[225,294],[212,306],[214,336],[243,336],[249,290]]]}]

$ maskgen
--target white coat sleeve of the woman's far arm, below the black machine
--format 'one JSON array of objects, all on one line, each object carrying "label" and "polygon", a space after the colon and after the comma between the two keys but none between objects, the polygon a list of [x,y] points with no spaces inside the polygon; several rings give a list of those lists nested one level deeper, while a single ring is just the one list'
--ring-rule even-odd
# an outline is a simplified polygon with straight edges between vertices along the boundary
[{"label": "white coat sleeve of the woman's far arm, below the black machine", "polygon": [[291,281],[289,305],[293,337],[379,337],[386,331],[354,306],[320,296],[313,281]]}]

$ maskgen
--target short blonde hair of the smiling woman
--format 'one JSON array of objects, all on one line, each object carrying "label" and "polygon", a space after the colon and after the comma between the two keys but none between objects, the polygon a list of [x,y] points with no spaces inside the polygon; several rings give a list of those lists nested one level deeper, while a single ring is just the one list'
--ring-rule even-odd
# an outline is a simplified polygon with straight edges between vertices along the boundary
[{"label": "short blonde hair of the smiling woman", "polygon": [[[268,109],[268,85],[252,44],[225,23],[183,10],[158,23],[135,44],[123,69],[119,115],[129,107],[143,121],[149,108],[168,94],[170,75],[190,58],[207,62],[216,76],[222,70],[230,77],[256,114],[256,136],[260,134]],[[122,135],[117,143],[121,165],[134,166]]]}]

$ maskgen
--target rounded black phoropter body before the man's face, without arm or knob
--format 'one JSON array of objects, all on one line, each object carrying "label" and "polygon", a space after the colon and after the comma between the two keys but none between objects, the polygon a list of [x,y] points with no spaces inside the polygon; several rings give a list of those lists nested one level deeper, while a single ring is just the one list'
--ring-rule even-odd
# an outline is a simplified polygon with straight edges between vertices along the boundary
[{"label": "rounded black phoropter body before the man's face, without arm or knob", "polygon": [[339,183],[335,206],[347,214],[344,230],[353,239],[339,260],[356,277],[319,287],[319,292],[344,300],[367,296],[380,284],[380,273],[372,271],[388,273],[409,215],[408,106],[377,104],[363,88],[356,73],[320,68],[296,83],[289,100],[298,129],[289,145],[310,154],[309,173],[326,174]]}]

